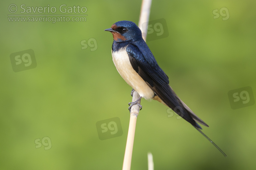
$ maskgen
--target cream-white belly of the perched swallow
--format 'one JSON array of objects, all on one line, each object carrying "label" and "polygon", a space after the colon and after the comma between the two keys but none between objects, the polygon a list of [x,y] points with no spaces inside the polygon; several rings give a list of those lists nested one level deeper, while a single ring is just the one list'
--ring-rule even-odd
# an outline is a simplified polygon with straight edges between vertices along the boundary
[{"label": "cream-white belly of the perched swallow", "polygon": [[117,71],[126,83],[128,83],[141,97],[146,100],[153,98],[155,94],[154,91],[146,84],[140,75],[134,71],[125,49],[112,52],[112,59]]}]

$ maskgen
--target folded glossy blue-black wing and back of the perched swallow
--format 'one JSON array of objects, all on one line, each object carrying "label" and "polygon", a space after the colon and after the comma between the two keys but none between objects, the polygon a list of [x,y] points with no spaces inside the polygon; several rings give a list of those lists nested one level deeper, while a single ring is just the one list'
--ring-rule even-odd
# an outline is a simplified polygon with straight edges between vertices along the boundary
[{"label": "folded glossy blue-black wing and back of the perched swallow", "polygon": [[[139,44],[139,47],[137,44]],[[208,126],[175,94],[169,85],[165,72],[158,66],[155,57],[147,47],[145,41],[128,44],[126,52],[132,68],[148,84],[155,94],[174,112],[193,126],[202,129],[196,122]]]}]

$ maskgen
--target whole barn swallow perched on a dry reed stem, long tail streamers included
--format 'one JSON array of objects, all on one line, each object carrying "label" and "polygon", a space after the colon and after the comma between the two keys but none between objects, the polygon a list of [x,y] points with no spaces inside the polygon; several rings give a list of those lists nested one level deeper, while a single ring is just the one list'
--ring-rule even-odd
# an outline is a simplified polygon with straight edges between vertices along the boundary
[{"label": "whole barn swallow perched on a dry reed stem, long tail streamers included", "polygon": [[[139,27],[131,21],[118,21],[104,31],[110,31],[113,34],[112,59],[117,71],[140,95],[137,101],[130,103],[130,107],[138,104],[141,98],[153,99],[170,107],[213,143],[224,156],[227,156],[200,130],[202,128],[198,123],[209,126],[173,91],[169,85],[168,76],[157,64],[155,57],[142,38]],[[141,107],[140,104],[138,105]]]}]

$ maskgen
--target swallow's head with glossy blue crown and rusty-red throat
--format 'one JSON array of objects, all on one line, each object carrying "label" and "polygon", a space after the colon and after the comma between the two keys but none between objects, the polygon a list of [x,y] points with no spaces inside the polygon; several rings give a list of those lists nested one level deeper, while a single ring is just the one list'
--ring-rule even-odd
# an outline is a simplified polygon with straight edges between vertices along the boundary
[{"label": "swallow's head with glossy blue crown and rusty-red throat", "polygon": [[111,28],[104,31],[110,31],[116,42],[138,41],[142,39],[141,30],[131,21],[118,21]]}]

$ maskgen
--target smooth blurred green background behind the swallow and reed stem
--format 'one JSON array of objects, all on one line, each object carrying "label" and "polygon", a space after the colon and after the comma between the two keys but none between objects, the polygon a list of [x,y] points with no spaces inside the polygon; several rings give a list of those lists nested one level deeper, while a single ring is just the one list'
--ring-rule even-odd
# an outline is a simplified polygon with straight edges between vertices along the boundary
[{"label": "smooth blurred green background behind the swallow and reed stem", "polygon": [[[10,4],[86,6],[88,16],[86,22],[9,22]],[[131,87],[116,71],[113,37],[103,30],[120,20],[138,24],[141,2],[14,0],[0,6],[0,169],[121,169]],[[213,19],[212,11],[222,7],[230,18]],[[256,105],[231,109],[228,99],[228,91],[246,86],[256,93],[255,7],[255,0],[153,0],[150,20],[164,18],[169,36],[147,44],[176,94],[209,124],[203,132],[228,157],[185,120],[168,118],[166,106],[142,99],[131,169],[147,169],[148,151],[161,170],[256,168]],[[94,51],[81,46],[90,38]],[[10,54],[27,49],[37,67],[14,72]],[[123,135],[100,140],[96,122],[114,117]],[[36,148],[43,137],[50,138],[48,150]]]}]

